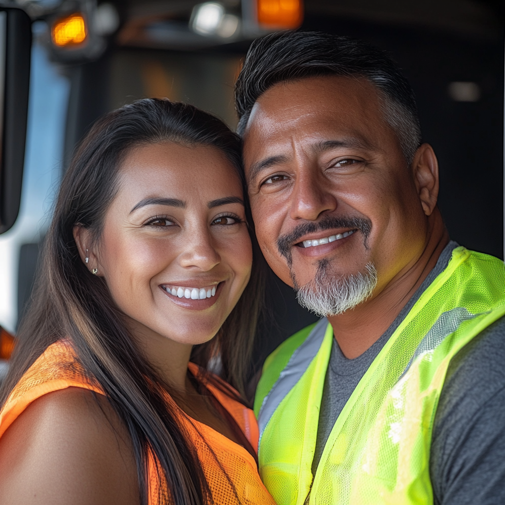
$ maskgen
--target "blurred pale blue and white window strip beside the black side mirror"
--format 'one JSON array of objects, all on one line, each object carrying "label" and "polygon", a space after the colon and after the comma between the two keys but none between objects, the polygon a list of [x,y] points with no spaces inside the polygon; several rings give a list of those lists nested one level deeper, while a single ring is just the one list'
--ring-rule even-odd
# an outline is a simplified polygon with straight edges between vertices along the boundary
[{"label": "blurred pale blue and white window strip beside the black side mirror", "polygon": [[[34,29],[40,27],[36,23]],[[38,243],[51,219],[61,177],[69,81],[35,40],[32,48],[28,124],[21,208],[0,235],[0,325],[15,332],[29,297]],[[21,254],[20,254],[21,253]],[[23,263],[20,267],[20,258]],[[30,261],[31,260],[31,261]],[[18,278],[19,277],[19,278]],[[22,297],[19,307],[19,297]]]}]

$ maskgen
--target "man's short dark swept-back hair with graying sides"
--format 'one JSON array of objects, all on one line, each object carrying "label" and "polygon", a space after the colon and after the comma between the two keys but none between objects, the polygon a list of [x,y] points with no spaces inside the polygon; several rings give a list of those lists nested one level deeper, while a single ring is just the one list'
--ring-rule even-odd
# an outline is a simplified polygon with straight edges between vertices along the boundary
[{"label": "man's short dark swept-back hair with graying sides", "polygon": [[377,88],[384,119],[410,165],[421,144],[421,126],[409,82],[381,49],[328,33],[286,31],[252,42],[235,84],[237,133],[243,134],[252,107],[267,89],[323,75],[361,76]]}]

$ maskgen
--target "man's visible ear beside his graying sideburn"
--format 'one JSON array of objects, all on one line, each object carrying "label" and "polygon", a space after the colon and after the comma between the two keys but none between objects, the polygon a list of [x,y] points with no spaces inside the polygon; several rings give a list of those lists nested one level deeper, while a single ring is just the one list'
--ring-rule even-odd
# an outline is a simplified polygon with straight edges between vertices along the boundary
[{"label": "man's visible ear beside his graying sideburn", "polygon": [[430,144],[421,144],[418,148],[411,170],[423,211],[429,216],[438,198],[438,161]]}]

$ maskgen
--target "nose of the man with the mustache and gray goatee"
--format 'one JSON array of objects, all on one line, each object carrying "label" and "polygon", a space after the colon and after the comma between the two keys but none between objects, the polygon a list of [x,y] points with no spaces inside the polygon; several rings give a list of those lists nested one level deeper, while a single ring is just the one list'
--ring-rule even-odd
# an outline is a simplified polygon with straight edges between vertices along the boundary
[{"label": "nose of the man with the mustache and gray goatee", "polygon": [[316,221],[323,212],[336,208],[337,199],[319,167],[300,167],[291,193],[291,219]]}]

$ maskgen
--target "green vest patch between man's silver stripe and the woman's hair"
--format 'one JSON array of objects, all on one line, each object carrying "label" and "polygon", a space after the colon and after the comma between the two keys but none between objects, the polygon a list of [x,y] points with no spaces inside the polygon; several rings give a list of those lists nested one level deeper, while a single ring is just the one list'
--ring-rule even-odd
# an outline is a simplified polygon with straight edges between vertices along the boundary
[{"label": "green vest patch between man's silver stripe and the woman's hair", "polygon": [[272,389],[273,385],[279,378],[280,373],[288,364],[293,352],[305,342],[305,339],[309,336],[316,324],[317,323],[313,323],[306,326],[300,331],[297,331],[294,335],[286,338],[286,340],[284,340],[284,342],[282,342],[265,360],[262,375],[256,389],[254,402],[254,412],[257,417],[261,409],[263,399]]}]

